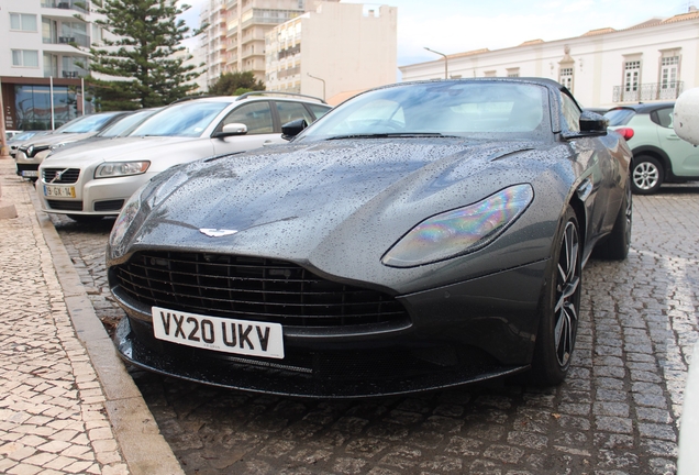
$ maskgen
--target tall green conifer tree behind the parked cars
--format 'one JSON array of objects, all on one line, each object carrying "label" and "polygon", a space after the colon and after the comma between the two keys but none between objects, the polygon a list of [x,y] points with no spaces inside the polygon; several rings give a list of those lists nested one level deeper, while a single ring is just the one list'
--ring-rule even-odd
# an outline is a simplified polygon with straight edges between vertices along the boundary
[{"label": "tall green conifer tree behind the parked cars", "polygon": [[[88,78],[102,110],[165,106],[197,88],[187,82],[201,71],[184,65],[191,56],[175,56],[186,49],[180,42],[189,27],[177,16],[187,9],[176,0],[104,0],[98,12],[106,20],[96,23],[116,40],[104,38],[104,47],[90,48]],[[110,78],[98,79],[92,73]]]}]

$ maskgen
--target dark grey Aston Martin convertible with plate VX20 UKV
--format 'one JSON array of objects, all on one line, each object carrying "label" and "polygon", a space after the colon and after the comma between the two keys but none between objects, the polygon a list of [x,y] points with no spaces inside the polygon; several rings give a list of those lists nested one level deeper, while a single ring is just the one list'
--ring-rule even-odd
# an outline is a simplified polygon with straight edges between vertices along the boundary
[{"label": "dark grey Aston Martin convertible with plate VX20 UKV", "polygon": [[355,398],[570,366],[582,266],[631,241],[631,153],[546,79],[362,93],[289,144],[166,170],[107,265],[146,369]]}]

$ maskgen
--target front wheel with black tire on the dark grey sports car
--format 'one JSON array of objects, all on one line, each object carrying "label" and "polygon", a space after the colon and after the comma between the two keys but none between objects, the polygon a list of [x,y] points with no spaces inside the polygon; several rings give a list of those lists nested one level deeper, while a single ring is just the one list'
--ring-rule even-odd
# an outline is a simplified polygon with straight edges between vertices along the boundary
[{"label": "front wheel with black tire on the dark grey sports car", "polygon": [[547,276],[530,380],[539,386],[563,382],[570,367],[580,312],[581,239],[569,206],[558,229]]}]

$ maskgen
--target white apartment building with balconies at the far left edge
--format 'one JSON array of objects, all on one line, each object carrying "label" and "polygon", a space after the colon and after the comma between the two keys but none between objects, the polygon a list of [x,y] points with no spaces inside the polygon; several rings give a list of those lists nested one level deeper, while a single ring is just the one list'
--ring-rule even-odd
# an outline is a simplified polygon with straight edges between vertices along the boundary
[{"label": "white apartment building with balconies at the far left edge", "polygon": [[90,107],[80,78],[88,73],[87,48],[102,38],[92,10],[89,0],[2,0],[0,84],[7,129],[51,129]]}]

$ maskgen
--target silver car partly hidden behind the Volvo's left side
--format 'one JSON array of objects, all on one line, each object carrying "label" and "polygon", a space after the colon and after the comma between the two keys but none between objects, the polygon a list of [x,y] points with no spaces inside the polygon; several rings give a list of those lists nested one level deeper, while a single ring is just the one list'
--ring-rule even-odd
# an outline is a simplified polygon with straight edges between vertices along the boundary
[{"label": "silver car partly hidden behind the Volvo's left side", "polygon": [[90,137],[130,113],[114,111],[81,115],[35,141],[26,141],[14,153],[16,174],[36,181],[38,164],[51,153],[52,147]]}]

